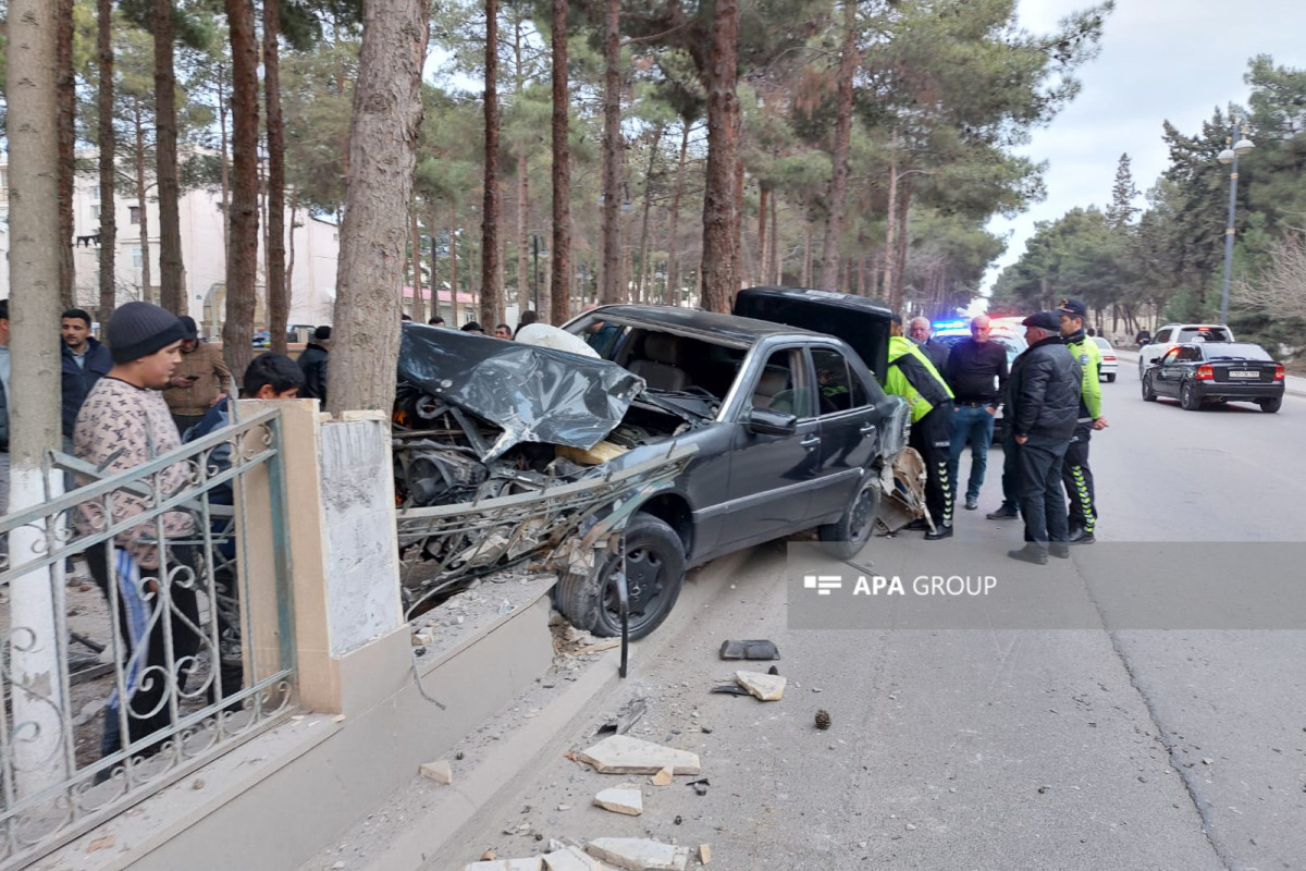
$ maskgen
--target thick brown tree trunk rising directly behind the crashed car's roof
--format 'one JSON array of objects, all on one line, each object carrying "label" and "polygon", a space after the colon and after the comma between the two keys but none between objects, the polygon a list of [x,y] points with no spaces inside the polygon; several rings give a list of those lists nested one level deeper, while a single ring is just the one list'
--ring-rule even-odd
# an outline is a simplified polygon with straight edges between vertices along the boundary
[{"label": "thick brown tree trunk rising directly behind the crashed car's roof", "polygon": [[704,84],[708,91],[708,170],[703,195],[703,308],[729,312],[739,289],[738,159],[739,97],[738,0],[717,0]]}]

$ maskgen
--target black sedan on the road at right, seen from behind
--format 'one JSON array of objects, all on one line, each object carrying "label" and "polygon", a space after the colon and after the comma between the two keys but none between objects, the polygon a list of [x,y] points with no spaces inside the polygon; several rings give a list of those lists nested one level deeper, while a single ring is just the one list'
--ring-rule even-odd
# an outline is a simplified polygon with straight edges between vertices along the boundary
[{"label": "black sedan on the road at right, seen from behind", "polygon": [[1284,364],[1251,342],[1186,342],[1143,373],[1143,401],[1161,396],[1187,411],[1205,402],[1255,402],[1273,414],[1284,402]]}]

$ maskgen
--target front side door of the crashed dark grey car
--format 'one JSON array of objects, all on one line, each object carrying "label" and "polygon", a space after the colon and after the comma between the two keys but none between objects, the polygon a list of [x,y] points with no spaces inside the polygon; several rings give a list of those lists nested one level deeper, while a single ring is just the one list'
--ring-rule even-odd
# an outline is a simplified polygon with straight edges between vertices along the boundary
[{"label": "front side door of the crashed dark grey car", "polygon": [[[750,397],[739,409],[730,451],[730,481],[722,543],[767,541],[802,528],[812,490],[820,483],[820,424],[815,415],[811,372],[801,346],[767,355],[743,385]],[[754,409],[794,415],[794,431],[768,435],[750,428]]]}]

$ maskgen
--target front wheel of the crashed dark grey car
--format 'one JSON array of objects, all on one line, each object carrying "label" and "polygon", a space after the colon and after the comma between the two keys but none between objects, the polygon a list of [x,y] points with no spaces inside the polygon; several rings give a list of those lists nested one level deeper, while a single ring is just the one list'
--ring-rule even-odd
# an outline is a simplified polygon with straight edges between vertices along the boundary
[{"label": "front wheel of the crashed dark grey car", "polygon": [[[588,585],[586,627],[601,637],[622,633],[616,593],[618,554],[607,554]],[[675,530],[653,515],[636,515],[626,528],[626,577],[629,595],[629,639],[643,639],[671,614],[684,586],[684,545]],[[563,614],[567,614],[563,611]],[[568,615],[569,616],[569,615]]]}]

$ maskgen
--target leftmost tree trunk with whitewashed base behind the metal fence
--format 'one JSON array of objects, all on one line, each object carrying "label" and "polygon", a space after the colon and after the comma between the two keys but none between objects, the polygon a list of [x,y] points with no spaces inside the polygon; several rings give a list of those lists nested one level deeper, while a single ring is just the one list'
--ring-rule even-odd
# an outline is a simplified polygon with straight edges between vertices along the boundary
[{"label": "leftmost tree trunk with whitewashed base behind the metal fence", "polygon": [[[18,512],[57,496],[61,477],[46,491],[42,457],[59,447],[59,119],[56,98],[57,10],[48,0],[10,0],[8,18],[9,137],[9,293],[12,370],[9,377],[8,507]],[[71,242],[71,240],[69,240]],[[61,529],[57,531],[63,531]],[[8,562],[5,682],[12,683],[9,723],[22,723],[21,739],[5,747],[14,798],[52,789],[71,772],[72,751],[63,746],[67,673],[61,665],[55,615],[64,612],[64,585],[48,567],[27,568],[47,552],[43,521],[13,529]],[[22,641],[18,642],[18,639]],[[30,688],[30,692],[29,692]],[[12,714],[12,720],[9,718]],[[18,733],[12,733],[20,738]],[[7,804],[9,799],[7,797]]]}]

